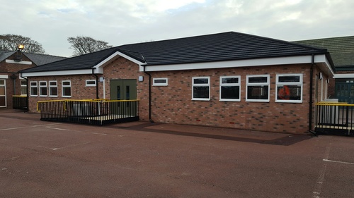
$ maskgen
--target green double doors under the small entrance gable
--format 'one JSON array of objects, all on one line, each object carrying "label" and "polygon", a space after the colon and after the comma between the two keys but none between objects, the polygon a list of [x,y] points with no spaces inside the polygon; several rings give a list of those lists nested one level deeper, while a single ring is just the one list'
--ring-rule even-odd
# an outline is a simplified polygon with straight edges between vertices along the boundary
[{"label": "green double doors under the small entrance gable", "polygon": [[110,99],[122,100],[110,107],[116,115],[137,115],[137,102],[124,101],[137,99],[137,80],[110,80]]}]

